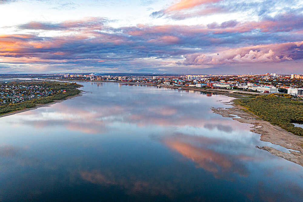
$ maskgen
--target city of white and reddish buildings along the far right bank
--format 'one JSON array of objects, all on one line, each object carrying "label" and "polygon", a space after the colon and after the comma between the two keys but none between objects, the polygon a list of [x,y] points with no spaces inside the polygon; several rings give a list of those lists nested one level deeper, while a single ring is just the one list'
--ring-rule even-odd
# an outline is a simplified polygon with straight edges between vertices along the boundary
[{"label": "city of white and reddish buildings along the far right bank", "polygon": [[[59,77],[57,77],[59,76]],[[303,75],[176,75],[176,76],[111,76],[94,74],[64,74],[54,78],[90,80],[90,81],[123,81],[146,84],[165,84],[211,89],[245,90],[261,93],[287,93],[301,98]],[[293,84],[292,84],[293,83]],[[292,86],[291,86],[292,84]],[[236,91],[233,91],[236,92]]]}]

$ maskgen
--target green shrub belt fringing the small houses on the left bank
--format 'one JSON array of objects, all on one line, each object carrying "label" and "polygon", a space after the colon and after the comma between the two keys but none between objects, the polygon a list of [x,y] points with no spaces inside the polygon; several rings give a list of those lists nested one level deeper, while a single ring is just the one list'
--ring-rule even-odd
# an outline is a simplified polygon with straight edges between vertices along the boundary
[{"label": "green shrub belt fringing the small houses on the left bank", "polygon": [[[48,104],[55,100],[62,100],[69,96],[74,96],[79,94],[79,91],[76,88],[79,88],[80,85],[76,83],[62,83],[62,82],[48,82],[48,81],[34,81],[34,82],[9,82],[7,85],[38,85],[41,87],[45,87],[54,91],[59,91],[55,94],[48,94],[43,97],[34,98],[28,101],[20,102],[20,103],[9,103],[0,106],[0,115],[7,114],[13,111],[19,111],[26,108],[36,107],[37,104]],[[64,92],[65,91],[65,92]],[[37,96],[36,96],[37,97]]]}]

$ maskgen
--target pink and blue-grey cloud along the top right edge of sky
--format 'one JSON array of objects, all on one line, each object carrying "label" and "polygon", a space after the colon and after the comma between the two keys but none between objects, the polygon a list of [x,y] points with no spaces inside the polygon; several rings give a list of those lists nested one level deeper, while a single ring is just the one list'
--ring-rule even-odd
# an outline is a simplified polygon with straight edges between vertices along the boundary
[{"label": "pink and blue-grey cloud along the top right edge of sky", "polygon": [[152,12],[150,17],[184,20],[214,14],[239,14],[243,12],[252,17],[263,17],[285,12],[301,13],[301,11],[302,5],[298,1],[182,0],[159,11]]}]

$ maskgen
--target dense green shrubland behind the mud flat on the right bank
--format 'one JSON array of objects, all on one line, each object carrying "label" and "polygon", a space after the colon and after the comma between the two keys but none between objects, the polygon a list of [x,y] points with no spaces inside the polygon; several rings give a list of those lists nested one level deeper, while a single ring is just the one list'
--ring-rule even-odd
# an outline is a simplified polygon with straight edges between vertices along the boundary
[{"label": "dense green shrubland behind the mud flat on the right bank", "polygon": [[303,128],[295,127],[291,122],[303,121],[303,102],[275,95],[258,95],[251,99],[237,100],[240,105],[273,125],[295,135],[303,136]]}]

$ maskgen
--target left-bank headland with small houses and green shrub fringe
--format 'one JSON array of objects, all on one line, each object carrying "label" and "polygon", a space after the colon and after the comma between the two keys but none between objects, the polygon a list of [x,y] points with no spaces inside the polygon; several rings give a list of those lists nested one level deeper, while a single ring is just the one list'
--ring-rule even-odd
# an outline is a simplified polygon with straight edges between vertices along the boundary
[{"label": "left-bank headland with small houses and green shrub fringe", "polygon": [[0,117],[77,96],[81,86],[74,82],[0,81]]}]

